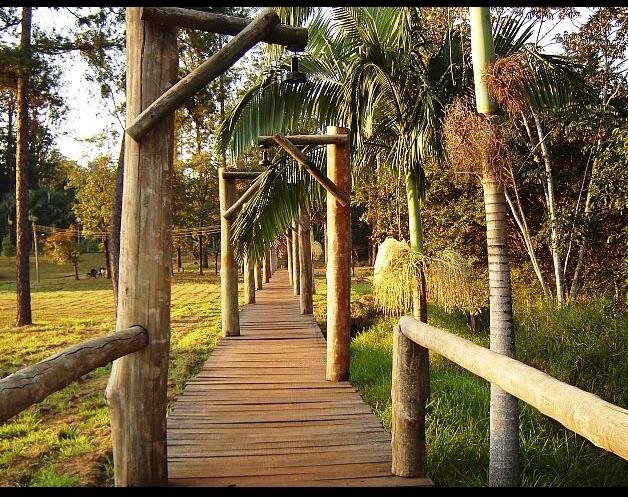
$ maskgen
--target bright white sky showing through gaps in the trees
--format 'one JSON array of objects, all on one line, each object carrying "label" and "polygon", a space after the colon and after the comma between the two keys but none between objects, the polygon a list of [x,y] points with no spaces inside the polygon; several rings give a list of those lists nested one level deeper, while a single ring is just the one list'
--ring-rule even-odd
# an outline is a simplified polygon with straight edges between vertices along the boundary
[{"label": "bright white sky showing through gaps in the trees", "polygon": [[[578,10],[586,15],[588,9]],[[75,27],[75,18],[67,9],[53,11],[48,8],[36,8],[33,10],[33,25],[46,31],[56,29],[61,33],[67,33]],[[571,30],[573,25],[569,21],[562,21],[545,38],[543,44],[549,43],[554,34]],[[546,50],[556,53],[558,48],[556,45],[547,45]],[[122,128],[111,114],[113,103],[104,101],[98,85],[85,78],[88,66],[80,54],[70,53],[63,57],[62,83],[68,112],[57,137],[59,150],[66,157],[82,165],[101,154],[117,157]],[[120,102],[124,95],[119,94],[115,98]],[[85,141],[103,131],[107,132],[106,139],[100,145]]]}]

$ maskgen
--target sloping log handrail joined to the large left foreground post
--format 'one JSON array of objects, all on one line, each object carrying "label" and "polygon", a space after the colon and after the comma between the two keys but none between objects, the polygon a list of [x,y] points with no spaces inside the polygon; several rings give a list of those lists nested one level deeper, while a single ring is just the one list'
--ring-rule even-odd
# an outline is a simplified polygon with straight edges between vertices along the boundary
[{"label": "sloping log handrail joined to the large left foreground post", "polygon": [[0,423],[81,376],[148,345],[148,333],[133,326],[81,342],[0,380]]}]

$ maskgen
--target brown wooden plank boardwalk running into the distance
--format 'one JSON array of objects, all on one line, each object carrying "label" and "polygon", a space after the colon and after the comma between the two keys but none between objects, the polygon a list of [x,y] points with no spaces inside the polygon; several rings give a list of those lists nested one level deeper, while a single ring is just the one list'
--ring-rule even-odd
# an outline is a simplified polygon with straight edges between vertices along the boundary
[{"label": "brown wooden plank boardwalk running into the distance", "polygon": [[349,382],[325,381],[325,340],[287,271],[240,313],[168,417],[175,486],[414,486],[390,473],[390,435]]}]

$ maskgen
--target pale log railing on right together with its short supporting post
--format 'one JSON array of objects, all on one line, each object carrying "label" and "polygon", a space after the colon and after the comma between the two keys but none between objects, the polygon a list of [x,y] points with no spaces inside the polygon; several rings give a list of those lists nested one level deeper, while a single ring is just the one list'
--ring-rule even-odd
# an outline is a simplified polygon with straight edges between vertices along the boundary
[{"label": "pale log railing on right together with its short supporting post", "polygon": [[425,476],[428,349],[498,385],[593,444],[628,459],[628,410],[510,357],[405,316],[395,326],[392,472]]}]

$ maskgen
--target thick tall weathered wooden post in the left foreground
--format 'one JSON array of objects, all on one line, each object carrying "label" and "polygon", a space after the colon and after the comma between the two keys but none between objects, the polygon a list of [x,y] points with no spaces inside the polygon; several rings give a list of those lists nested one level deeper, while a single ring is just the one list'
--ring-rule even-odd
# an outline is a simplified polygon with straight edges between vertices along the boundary
[{"label": "thick tall weathered wooden post in the left foreground", "polygon": [[[176,29],[142,21],[140,10],[126,9],[127,125],[177,78]],[[125,139],[116,329],[142,326],[148,346],[116,360],[107,385],[117,486],[168,482],[173,157],[173,114],[140,142]]]}]

